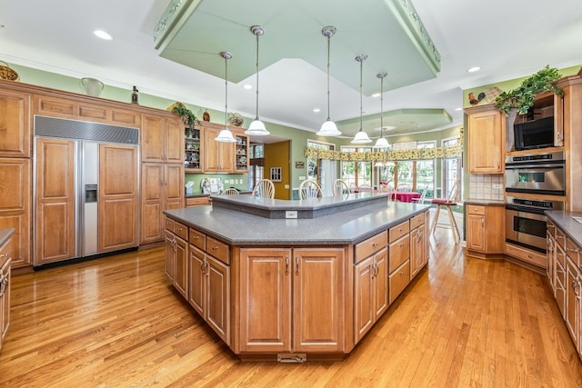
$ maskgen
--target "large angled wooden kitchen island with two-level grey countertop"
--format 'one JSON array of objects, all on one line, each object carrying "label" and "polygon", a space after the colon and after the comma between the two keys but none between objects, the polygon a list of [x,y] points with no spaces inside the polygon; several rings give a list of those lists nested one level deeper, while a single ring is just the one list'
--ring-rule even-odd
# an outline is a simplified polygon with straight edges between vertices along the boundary
[{"label": "large angled wooden kitchen island with two-level grey countertop", "polygon": [[426,266],[428,208],[217,197],[165,212],[166,275],[242,359],[341,359]]}]

